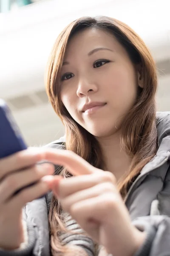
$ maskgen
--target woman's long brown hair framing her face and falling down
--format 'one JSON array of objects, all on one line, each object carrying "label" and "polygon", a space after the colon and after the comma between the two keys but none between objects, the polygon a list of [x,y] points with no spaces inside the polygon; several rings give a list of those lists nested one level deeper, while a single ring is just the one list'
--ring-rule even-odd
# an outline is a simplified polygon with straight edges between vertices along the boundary
[{"label": "woman's long brown hair framing her face and falling down", "polygon": [[[138,91],[137,100],[121,127],[121,146],[132,157],[130,174],[118,184],[119,191],[124,197],[129,184],[139,175],[143,166],[155,155],[157,149],[156,66],[142,39],[125,23],[110,17],[81,17],[75,20],[60,33],[51,51],[45,77],[46,90],[54,111],[65,125],[65,148],[74,151],[95,167],[101,168],[104,163],[98,141],[71,117],[59,95],[59,73],[70,38],[78,31],[94,26],[111,32],[126,49],[133,64],[140,64],[142,69],[143,89]],[[64,168],[60,170],[60,175],[70,176]],[[55,248],[63,252],[64,248],[57,234],[65,228],[62,208],[55,197],[51,200],[49,225],[53,249],[54,244],[57,244]]]}]

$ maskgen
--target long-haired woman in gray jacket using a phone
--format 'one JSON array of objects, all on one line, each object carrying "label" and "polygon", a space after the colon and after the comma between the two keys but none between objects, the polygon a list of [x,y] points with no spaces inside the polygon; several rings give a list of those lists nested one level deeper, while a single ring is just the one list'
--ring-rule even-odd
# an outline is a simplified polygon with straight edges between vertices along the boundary
[{"label": "long-haired woman in gray jacket using a phone", "polygon": [[58,36],[46,88],[65,138],[0,160],[0,255],[170,255],[170,113],[156,115],[144,42],[82,17]]}]

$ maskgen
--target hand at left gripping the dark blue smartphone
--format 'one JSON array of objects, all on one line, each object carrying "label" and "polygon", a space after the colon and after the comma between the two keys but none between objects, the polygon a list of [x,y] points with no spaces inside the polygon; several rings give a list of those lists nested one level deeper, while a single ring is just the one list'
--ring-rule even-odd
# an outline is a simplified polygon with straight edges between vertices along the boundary
[{"label": "hand at left gripping the dark blue smartphone", "polygon": [[[3,249],[20,247],[24,241],[22,207],[48,192],[51,180],[42,177],[52,175],[54,167],[36,165],[44,159],[40,148],[29,148],[0,159],[0,247]],[[14,192],[34,182],[37,183],[13,196]]]}]

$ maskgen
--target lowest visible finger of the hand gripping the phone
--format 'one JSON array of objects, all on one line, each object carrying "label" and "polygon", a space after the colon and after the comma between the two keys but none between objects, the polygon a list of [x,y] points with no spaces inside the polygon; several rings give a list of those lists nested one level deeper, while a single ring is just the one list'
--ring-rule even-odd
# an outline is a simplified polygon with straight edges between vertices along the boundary
[{"label": "lowest visible finger of the hand gripping the phone", "polygon": [[35,183],[35,185],[22,189],[17,195],[8,201],[8,204],[13,205],[14,208],[24,207],[26,203],[45,195],[49,191],[53,179],[54,176],[52,175],[42,177],[39,182]]}]

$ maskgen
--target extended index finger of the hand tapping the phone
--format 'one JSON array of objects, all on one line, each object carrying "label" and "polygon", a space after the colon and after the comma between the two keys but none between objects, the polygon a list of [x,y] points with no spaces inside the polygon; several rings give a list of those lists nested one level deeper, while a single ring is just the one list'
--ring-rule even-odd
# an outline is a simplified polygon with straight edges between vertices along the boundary
[{"label": "extended index finger of the hand tapping the phone", "polygon": [[72,151],[48,148],[45,149],[44,154],[46,160],[65,166],[73,175],[92,174],[98,170]]}]

